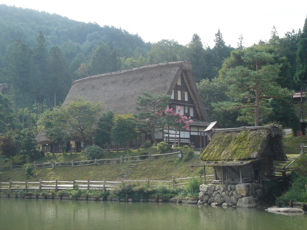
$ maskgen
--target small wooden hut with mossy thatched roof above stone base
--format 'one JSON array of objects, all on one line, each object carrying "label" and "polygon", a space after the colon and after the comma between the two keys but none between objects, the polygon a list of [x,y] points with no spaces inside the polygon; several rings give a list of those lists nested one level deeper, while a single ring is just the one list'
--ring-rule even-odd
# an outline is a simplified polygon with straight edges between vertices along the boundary
[{"label": "small wooden hut with mossy thatched roof above stone base", "polygon": [[273,160],[287,160],[282,130],[275,126],[213,129],[211,141],[193,166],[213,166],[217,182],[247,182],[273,175]]}]

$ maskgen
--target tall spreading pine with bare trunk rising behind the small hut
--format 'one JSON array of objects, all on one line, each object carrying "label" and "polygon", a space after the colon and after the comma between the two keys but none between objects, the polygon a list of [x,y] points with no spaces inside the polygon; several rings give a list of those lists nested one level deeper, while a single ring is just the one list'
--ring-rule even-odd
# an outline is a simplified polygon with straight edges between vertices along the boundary
[{"label": "tall spreading pine with bare trunk rising behind the small hut", "polygon": [[239,109],[243,115],[239,120],[258,126],[260,109],[262,113],[268,112],[266,106],[260,107],[260,101],[290,96],[292,92],[276,83],[281,66],[277,63],[271,64],[274,62],[273,55],[250,49],[242,56],[242,60],[249,67],[239,65],[230,68],[224,79],[229,85],[227,96],[232,100],[213,106],[222,111]]}]

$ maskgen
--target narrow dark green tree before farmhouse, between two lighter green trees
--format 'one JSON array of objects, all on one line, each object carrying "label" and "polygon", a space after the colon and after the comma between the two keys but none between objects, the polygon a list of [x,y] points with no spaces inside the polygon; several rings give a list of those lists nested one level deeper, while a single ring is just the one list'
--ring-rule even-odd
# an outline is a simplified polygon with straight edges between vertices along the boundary
[{"label": "narrow dark green tree before farmhouse, between two lighter green trees", "polygon": [[101,118],[99,118],[97,128],[95,129],[95,141],[98,144],[104,145],[111,143],[114,116],[115,113],[109,110],[103,113]]}]

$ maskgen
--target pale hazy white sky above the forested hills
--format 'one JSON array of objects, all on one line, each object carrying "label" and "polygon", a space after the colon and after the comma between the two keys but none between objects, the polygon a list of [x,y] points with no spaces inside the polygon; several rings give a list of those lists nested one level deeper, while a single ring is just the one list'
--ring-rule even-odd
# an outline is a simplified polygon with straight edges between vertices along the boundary
[{"label": "pale hazy white sky above the forested hills", "polygon": [[145,42],[174,39],[185,45],[197,33],[211,48],[218,29],[227,45],[237,47],[242,34],[245,47],[249,47],[259,40],[269,40],[273,26],[280,37],[293,29],[302,30],[307,16],[307,1],[303,0],[0,0],[0,3],[122,28],[138,34]]}]

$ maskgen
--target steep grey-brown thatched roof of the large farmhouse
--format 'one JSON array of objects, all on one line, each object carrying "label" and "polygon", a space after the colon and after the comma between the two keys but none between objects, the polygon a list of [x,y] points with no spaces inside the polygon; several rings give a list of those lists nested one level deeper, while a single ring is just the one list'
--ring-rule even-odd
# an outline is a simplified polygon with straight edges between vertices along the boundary
[{"label": "steep grey-brown thatched roof of the large farmhouse", "polygon": [[144,91],[150,94],[171,95],[179,77],[183,74],[196,111],[203,121],[209,122],[203,102],[191,76],[191,63],[187,61],[167,62],[133,68],[127,71],[90,76],[74,81],[63,105],[82,96],[90,101],[102,101],[106,110],[115,113],[136,113],[138,96]]}]

